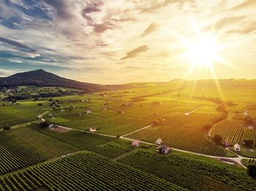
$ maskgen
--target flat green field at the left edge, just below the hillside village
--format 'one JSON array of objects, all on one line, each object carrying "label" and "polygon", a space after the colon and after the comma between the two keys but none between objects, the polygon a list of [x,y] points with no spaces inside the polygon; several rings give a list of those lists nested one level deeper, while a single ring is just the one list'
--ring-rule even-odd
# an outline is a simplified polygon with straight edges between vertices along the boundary
[{"label": "flat green field at the left edge, just below the hillside village", "polygon": [[37,119],[42,110],[26,106],[0,106],[0,128]]}]

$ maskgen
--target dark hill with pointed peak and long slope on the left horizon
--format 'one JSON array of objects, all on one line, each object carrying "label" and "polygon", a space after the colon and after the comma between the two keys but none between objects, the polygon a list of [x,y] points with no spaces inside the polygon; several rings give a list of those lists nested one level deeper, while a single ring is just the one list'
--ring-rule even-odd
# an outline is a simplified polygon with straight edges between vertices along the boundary
[{"label": "dark hill with pointed peak and long slope on the left horizon", "polygon": [[124,89],[132,85],[99,85],[87,82],[78,82],[72,79],[59,77],[56,74],[37,69],[13,74],[10,77],[0,77],[0,87],[17,87],[24,85],[71,87],[85,90],[88,93],[105,90]]}]

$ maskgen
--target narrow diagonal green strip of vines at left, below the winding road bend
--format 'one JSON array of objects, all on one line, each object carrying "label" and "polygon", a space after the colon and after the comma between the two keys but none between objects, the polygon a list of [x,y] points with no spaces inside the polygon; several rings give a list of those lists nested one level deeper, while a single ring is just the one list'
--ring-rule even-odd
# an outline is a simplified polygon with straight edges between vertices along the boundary
[{"label": "narrow diagonal green strip of vines at left, below the winding road bend", "polygon": [[26,141],[26,143],[33,145],[40,151],[48,153],[50,157],[59,157],[78,150],[69,144],[53,139],[29,127],[16,128],[12,130],[11,133],[18,136],[18,139]]}]

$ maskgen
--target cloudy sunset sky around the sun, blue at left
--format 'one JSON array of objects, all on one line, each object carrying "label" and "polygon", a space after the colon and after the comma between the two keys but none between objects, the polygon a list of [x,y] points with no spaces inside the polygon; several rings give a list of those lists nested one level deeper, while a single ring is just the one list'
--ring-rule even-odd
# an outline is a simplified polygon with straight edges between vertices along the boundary
[{"label": "cloudy sunset sky around the sun, blue at left", "polygon": [[[211,67],[185,56],[200,36],[217,44]],[[44,69],[101,84],[254,79],[255,44],[255,0],[0,0],[0,77]]]}]

